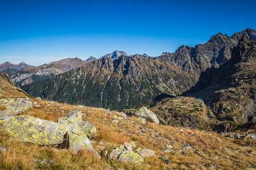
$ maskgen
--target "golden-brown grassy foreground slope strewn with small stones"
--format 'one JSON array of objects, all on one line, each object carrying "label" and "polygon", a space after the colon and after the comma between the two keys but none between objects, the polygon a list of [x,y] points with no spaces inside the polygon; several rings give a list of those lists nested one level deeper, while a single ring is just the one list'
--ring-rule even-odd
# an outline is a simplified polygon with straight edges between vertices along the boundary
[{"label": "golden-brown grassy foreground slope strewn with small stones", "polygon": [[[253,169],[256,168],[255,131],[217,134],[212,131],[142,123],[137,117],[100,108],[31,99],[32,108],[20,115],[57,121],[79,108],[84,121],[97,129],[91,139],[100,153],[130,143],[155,155],[141,164],[101,159],[86,151],[58,150],[53,146],[10,141],[1,130],[0,169]],[[164,159],[163,156],[166,155]],[[162,158],[161,158],[162,156]],[[167,161],[168,160],[168,161]]]}]

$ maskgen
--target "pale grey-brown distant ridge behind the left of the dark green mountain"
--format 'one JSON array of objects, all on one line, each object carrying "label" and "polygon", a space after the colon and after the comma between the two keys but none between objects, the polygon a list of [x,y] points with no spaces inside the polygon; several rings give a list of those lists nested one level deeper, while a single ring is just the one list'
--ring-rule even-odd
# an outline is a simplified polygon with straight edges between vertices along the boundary
[{"label": "pale grey-brown distant ridge behind the left of the dark green mountain", "polygon": [[38,80],[52,78],[54,75],[65,73],[68,70],[84,66],[80,58],[65,58],[48,65],[30,67],[24,70],[10,71],[8,74],[17,86],[23,86]]}]

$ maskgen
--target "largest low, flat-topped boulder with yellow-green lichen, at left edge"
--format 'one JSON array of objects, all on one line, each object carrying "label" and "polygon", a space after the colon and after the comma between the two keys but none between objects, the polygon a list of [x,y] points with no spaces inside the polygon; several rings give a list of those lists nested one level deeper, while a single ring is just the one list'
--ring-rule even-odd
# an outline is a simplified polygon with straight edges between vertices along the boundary
[{"label": "largest low, flat-topped boulder with yellow-green lichen, at left edge", "polygon": [[0,127],[20,142],[54,145],[63,141],[67,128],[32,116],[0,117]]}]

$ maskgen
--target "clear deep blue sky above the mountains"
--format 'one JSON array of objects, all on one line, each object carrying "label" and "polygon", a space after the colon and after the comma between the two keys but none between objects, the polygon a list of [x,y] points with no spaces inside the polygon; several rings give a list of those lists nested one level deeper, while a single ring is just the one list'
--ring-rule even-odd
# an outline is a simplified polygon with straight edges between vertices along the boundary
[{"label": "clear deep blue sky above the mountains", "polygon": [[114,50],[160,56],[256,29],[256,1],[0,0],[0,63],[42,65]]}]

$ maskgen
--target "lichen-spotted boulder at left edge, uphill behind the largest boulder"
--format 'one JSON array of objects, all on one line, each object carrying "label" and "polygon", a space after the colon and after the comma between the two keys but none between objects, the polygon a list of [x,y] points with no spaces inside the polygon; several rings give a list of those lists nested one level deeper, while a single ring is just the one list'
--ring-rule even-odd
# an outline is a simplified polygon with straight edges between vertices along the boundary
[{"label": "lichen-spotted boulder at left edge, uphill behind the largest boulder", "polygon": [[14,116],[30,109],[32,107],[32,102],[23,98],[7,98],[1,99],[0,105],[6,107],[5,111],[0,111],[0,116]]}]

